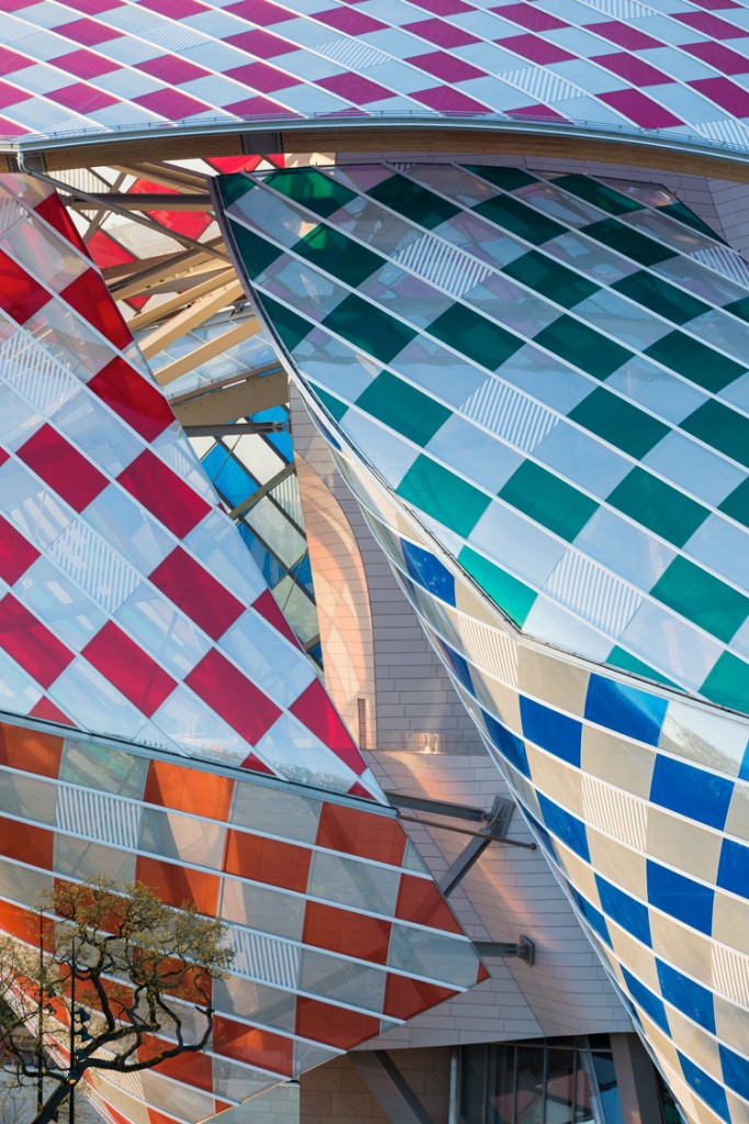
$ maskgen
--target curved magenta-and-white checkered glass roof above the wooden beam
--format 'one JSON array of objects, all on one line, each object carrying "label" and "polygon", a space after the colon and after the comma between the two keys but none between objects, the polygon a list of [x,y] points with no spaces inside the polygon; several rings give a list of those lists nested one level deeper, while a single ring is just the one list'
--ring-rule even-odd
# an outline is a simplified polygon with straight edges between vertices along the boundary
[{"label": "curved magenta-and-white checkered glass roof above the wooden beam", "polygon": [[174,123],[482,118],[749,147],[746,0],[13,0],[0,136]]}]

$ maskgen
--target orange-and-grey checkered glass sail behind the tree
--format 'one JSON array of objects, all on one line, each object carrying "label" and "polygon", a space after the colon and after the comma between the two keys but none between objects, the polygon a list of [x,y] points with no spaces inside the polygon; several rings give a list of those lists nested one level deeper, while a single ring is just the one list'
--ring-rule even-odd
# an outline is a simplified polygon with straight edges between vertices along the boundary
[{"label": "orange-and-grey checkered glass sail behind the tree", "polygon": [[[108,1118],[195,1124],[486,978],[373,801],[0,724],[0,926],[33,948],[38,892],[102,873],[227,923],[209,1046],[153,1072],[88,1071]],[[45,1030],[66,1042],[54,1015]]]}]

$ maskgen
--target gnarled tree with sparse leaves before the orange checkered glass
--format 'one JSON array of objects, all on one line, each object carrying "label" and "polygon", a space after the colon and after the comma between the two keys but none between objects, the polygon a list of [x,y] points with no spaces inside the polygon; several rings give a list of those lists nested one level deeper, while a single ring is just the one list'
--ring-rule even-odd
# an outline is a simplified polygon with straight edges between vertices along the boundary
[{"label": "gnarled tree with sparse leaves before the orange checkered glass", "polygon": [[30,1124],[54,1120],[86,1070],[131,1073],[208,1045],[212,981],[232,958],[221,922],[139,882],[57,883],[39,948],[0,942],[0,1049],[37,1086]]}]

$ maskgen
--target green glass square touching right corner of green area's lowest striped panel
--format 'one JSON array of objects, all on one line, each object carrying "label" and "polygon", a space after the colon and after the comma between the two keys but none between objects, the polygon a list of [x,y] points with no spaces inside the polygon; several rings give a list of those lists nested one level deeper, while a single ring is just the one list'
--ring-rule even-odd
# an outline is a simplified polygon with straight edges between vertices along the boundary
[{"label": "green glass square touching right corner of green area's lowest striped panel", "polygon": [[650,592],[727,643],[741,627],[749,609],[748,597],[681,555],[674,559]]}]

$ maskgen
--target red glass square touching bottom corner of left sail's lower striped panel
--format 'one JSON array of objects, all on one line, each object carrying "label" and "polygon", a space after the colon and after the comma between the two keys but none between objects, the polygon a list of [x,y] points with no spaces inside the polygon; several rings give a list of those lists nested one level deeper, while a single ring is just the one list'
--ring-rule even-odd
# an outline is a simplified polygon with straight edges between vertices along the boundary
[{"label": "red glass square touching bottom corner of left sail's lower striped panel", "polygon": [[176,681],[113,620],[108,620],[89,641],[82,654],[148,717],[176,687]]}]

